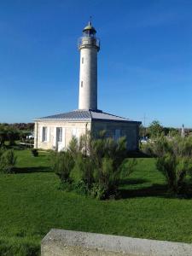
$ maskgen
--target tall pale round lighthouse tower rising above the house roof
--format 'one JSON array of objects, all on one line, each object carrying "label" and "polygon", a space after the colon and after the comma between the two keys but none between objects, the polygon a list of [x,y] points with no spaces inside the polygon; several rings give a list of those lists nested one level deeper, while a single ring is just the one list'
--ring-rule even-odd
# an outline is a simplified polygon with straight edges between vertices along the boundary
[{"label": "tall pale round lighthouse tower rising above the house roof", "polygon": [[97,52],[100,41],[96,29],[89,21],[84,27],[83,37],[79,38],[79,109],[97,110]]}]

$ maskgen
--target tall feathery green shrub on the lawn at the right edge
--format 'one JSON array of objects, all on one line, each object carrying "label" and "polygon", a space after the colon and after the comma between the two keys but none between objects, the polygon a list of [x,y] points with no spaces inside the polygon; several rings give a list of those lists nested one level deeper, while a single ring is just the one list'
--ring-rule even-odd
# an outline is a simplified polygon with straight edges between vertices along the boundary
[{"label": "tall feathery green shrub on the lawn at the right edge", "polygon": [[191,139],[160,137],[153,147],[157,169],[166,177],[169,190],[176,195],[187,192],[188,177],[192,176]]}]

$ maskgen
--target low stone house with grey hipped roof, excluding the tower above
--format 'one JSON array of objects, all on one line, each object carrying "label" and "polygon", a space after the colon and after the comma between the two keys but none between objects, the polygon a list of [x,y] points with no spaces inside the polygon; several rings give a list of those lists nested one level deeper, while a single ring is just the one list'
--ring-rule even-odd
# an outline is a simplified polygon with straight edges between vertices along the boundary
[{"label": "low stone house with grey hipped roof, excluding the tower above", "polygon": [[81,137],[90,131],[96,137],[105,131],[106,137],[126,137],[127,149],[137,150],[141,122],[122,118],[101,110],[75,110],[35,120],[34,147],[66,150],[72,137]]}]

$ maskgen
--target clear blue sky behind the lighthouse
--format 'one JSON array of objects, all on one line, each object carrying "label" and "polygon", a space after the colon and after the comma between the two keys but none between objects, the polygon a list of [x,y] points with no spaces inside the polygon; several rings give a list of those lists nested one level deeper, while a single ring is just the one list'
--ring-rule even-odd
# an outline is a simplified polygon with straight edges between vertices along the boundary
[{"label": "clear blue sky behind the lighthouse", "polygon": [[192,127],[191,14],[190,0],[0,0],[0,123],[78,108],[77,42],[91,15],[98,108]]}]

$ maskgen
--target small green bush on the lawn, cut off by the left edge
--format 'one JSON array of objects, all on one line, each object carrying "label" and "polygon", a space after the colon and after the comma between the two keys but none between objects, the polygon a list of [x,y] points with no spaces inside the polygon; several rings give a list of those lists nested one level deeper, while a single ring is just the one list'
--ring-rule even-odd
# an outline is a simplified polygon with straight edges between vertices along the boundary
[{"label": "small green bush on the lawn, cut off by the left edge", "polygon": [[0,150],[0,172],[11,173],[15,166],[14,150]]}]

